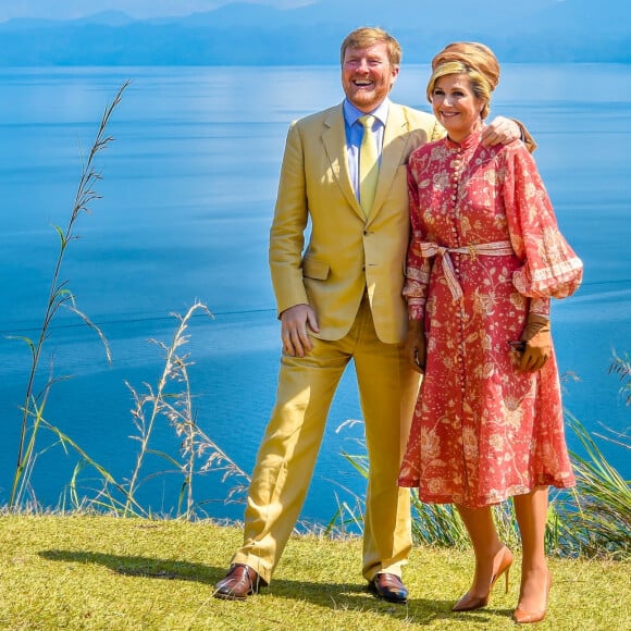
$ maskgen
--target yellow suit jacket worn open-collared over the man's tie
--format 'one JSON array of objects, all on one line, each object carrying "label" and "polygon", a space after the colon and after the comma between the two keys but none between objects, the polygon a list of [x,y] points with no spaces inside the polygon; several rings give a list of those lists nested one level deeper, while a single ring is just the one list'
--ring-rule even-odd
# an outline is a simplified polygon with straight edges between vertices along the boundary
[{"label": "yellow suit jacket worn open-collared over the man's tie", "polygon": [[320,326],[314,335],[339,339],[368,289],[380,339],[404,341],[407,161],[417,147],[444,133],[431,114],[391,103],[374,205],[366,218],[348,173],[342,104],[290,125],[270,234],[279,313],[308,304]]}]

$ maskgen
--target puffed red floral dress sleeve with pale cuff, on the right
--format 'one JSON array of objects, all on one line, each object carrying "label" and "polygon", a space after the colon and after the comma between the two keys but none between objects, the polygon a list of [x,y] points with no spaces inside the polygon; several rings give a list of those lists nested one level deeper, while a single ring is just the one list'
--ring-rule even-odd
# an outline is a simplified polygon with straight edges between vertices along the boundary
[{"label": "puffed red floral dress sleeve with pale cuff, on the right", "polygon": [[583,263],[559,231],[534,160],[521,144],[506,151],[504,202],[512,248],[523,261],[512,284],[529,298],[571,296]]}]

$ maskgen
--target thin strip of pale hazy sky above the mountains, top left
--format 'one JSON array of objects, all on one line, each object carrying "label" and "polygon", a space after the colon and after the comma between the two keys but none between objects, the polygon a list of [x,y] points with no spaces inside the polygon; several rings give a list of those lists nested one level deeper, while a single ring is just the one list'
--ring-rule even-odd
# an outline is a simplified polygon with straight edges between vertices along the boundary
[{"label": "thin strip of pale hazy sky above the mountains, top left", "polygon": [[[188,15],[211,11],[234,0],[0,0],[0,22],[12,17],[67,20],[99,13],[124,11],[132,17]],[[300,7],[313,0],[248,0],[279,8]]]}]

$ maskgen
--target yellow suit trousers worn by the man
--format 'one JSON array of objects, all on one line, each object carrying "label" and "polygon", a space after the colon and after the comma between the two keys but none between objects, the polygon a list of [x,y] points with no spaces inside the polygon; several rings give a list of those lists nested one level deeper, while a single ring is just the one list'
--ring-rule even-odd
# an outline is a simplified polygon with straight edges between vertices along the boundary
[{"label": "yellow suit trousers worn by the man", "polygon": [[248,493],[244,546],[232,561],[271,581],[307,496],[333,395],[352,359],[370,461],[362,573],[369,581],[380,571],[400,576],[411,549],[411,518],[409,491],[398,487],[397,477],[418,375],[401,345],[378,338],[366,297],[346,336],[311,341],[306,357],[283,355],[276,406]]}]

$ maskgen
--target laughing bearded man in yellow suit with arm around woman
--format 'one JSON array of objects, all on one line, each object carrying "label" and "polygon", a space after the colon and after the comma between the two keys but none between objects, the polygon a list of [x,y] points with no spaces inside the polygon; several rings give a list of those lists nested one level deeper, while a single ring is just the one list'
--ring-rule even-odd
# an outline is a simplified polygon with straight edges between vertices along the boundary
[{"label": "laughing bearded man in yellow suit with arm around woman", "polygon": [[[270,583],[307,495],[333,395],[354,360],[370,465],[363,577],[379,597],[407,599],[410,498],[397,477],[419,376],[403,356],[406,164],[444,129],[434,116],[388,99],[400,55],[381,29],[350,33],[342,45],[346,99],[289,127],[270,236],[283,342],[277,398],[252,473],[244,545],[216,597],[243,601]],[[360,163],[375,160],[364,158],[364,114],[373,116],[366,134],[376,177],[364,177]],[[519,136],[515,122],[496,119],[486,139]]]}]

